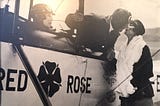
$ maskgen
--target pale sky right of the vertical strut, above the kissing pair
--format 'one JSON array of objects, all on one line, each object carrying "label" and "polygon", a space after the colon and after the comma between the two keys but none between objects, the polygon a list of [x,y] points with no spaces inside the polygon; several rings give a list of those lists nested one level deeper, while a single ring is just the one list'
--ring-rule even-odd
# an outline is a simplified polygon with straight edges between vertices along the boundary
[{"label": "pale sky right of the vertical strut, above the kissing pair", "polygon": [[144,22],[146,27],[160,27],[160,0],[99,0],[91,2],[86,0],[87,13],[95,12],[102,15],[112,14],[117,8],[127,9],[132,13],[133,18]]}]

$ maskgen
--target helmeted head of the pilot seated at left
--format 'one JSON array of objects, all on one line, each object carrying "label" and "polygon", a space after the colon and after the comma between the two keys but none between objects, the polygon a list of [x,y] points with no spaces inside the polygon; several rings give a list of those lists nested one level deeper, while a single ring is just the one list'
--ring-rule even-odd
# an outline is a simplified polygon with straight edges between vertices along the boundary
[{"label": "helmeted head of the pilot seated at left", "polygon": [[55,30],[52,27],[53,11],[46,4],[36,4],[30,10],[30,17],[36,29],[43,31]]}]

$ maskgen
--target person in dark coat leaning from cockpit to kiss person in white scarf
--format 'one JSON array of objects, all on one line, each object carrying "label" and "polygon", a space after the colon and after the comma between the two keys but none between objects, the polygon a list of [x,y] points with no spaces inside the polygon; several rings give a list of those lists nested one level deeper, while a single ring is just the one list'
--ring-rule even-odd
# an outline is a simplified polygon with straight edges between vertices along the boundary
[{"label": "person in dark coat leaning from cockpit to kiss person in white scarf", "polygon": [[[69,14],[65,23],[73,29],[77,29],[78,49],[94,54],[101,52],[102,58],[106,59],[106,54],[113,48],[116,38],[129,22],[131,13],[125,9],[116,9],[112,15],[99,17],[95,14],[79,15]],[[80,18],[75,18],[75,17]]]}]

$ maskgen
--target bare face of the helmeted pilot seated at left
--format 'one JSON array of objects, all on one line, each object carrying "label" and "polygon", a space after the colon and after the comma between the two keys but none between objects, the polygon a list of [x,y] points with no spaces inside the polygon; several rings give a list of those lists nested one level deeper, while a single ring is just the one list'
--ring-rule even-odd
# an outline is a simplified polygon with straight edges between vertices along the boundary
[{"label": "bare face of the helmeted pilot seated at left", "polygon": [[53,15],[46,14],[46,18],[43,20],[43,24],[48,28],[52,28],[52,21],[53,21]]}]

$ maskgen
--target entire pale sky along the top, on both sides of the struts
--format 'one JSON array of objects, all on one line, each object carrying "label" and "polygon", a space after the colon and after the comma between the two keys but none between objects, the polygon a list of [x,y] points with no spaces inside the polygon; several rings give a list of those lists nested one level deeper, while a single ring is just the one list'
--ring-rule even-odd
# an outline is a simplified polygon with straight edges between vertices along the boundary
[{"label": "entire pale sky along the top, on both sides of the struts", "polygon": [[[0,0],[5,4],[8,0]],[[101,16],[111,15],[117,8],[127,9],[133,18],[140,19],[146,28],[160,27],[160,0],[84,0],[85,14],[95,13]],[[9,0],[13,10],[15,0]],[[34,0],[35,3],[46,3],[56,13],[55,20],[65,20],[68,13],[78,9],[79,0]],[[2,5],[2,3],[1,3]],[[20,13],[28,15],[29,0],[21,0]]]}]

